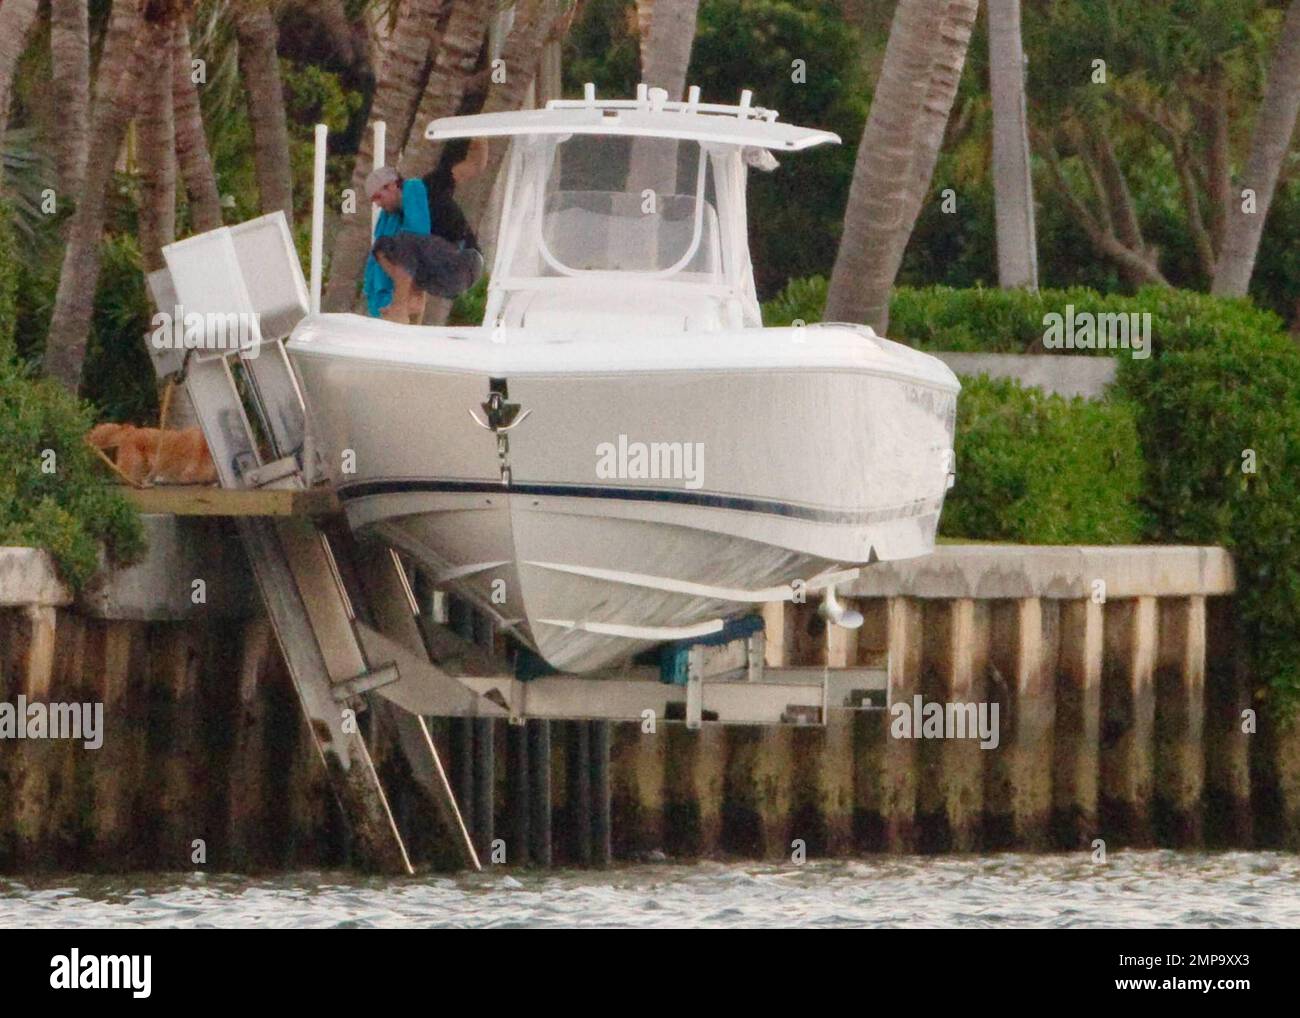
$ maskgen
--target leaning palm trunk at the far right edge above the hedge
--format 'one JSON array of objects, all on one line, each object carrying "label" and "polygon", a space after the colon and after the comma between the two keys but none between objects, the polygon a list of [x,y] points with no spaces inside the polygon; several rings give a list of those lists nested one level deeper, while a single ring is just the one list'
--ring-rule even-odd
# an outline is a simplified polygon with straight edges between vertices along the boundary
[{"label": "leaning palm trunk at the far right edge above the hedge", "polygon": [[1278,173],[1291,148],[1296,116],[1300,114],[1300,0],[1291,0],[1278,48],[1273,53],[1269,81],[1251,138],[1251,155],[1242,173],[1242,186],[1254,191],[1254,208],[1242,208],[1240,191],[1228,204],[1223,250],[1210,293],[1221,296],[1244,296],[1254,272],[1264,220],[1273,203]]}]

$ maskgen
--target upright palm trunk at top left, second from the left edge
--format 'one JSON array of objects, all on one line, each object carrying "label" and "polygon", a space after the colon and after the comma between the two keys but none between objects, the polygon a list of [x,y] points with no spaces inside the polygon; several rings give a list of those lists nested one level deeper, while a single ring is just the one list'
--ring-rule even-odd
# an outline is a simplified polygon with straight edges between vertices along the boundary
[{"label": "upright palm trunk at top left, second from the left edge", "polygon": [[90,12],[86,0],[51,0],[49,62],[58,109],[58,190],[81,194],[90,144]]}]

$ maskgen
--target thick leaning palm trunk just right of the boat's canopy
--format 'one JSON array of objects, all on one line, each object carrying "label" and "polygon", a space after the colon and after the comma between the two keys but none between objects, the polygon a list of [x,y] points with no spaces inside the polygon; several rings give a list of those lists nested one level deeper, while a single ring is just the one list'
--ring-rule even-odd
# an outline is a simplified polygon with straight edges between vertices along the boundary
[{"label": "thick leaning palm trunk just right of the boat's canopy", "polygon": [[979,0],[898,0],[849,187],[826,317],[884,333],[930,189]]}]

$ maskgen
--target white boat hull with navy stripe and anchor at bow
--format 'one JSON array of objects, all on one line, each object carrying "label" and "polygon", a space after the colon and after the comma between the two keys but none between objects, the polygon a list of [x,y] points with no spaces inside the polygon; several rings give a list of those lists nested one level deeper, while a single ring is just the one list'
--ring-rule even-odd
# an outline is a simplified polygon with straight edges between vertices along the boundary
[{"label": "white boat hull with navy stripe and anchor at bow", "polygon": [[957,393],[937,360],[849,329],[521,338],[317,316],[289,351],[354,529],[551,666],[933,546]]}]

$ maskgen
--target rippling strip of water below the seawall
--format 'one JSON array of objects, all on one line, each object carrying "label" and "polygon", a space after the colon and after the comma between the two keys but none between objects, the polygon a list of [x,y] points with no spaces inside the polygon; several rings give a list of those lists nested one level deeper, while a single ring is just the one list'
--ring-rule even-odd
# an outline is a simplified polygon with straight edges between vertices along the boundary
[{"label": "rippling strip of water below the seawall", "polygon": [[1300,857],[1114,852],[350,872],[0,878],[0,927],[1300,926]]}]

